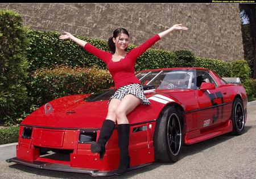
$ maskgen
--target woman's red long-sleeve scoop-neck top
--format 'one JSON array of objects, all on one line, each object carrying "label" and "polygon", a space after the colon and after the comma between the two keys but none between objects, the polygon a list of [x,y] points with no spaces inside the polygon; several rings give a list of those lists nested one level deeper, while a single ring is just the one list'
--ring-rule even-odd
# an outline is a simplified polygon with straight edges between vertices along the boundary
[{"label": "woman's red long-sleeve scoop-neck top", "polygon": [[86,51],[88,51],[89,53],[97,56],[99,59],[103,60],[106,65],[108,65],[108,70],[114,80],[115,89],[118,89],[121,86],[129,84],[141,84],[141,82],[134,74],[134,66],[136,60],[139,56],[142,55],[142,53],[146,52],[147,49],[154,45],[158,40],[160,40],[160,36],[158,34],[152,36],[142,45],[131,49],[131,51],[129,51],[126,56],[119,61],[112,60],[112,53],[102,51],[101,49],[98,49],[89,43],[86,43],[84,45],[84,49],[86,49]]}]

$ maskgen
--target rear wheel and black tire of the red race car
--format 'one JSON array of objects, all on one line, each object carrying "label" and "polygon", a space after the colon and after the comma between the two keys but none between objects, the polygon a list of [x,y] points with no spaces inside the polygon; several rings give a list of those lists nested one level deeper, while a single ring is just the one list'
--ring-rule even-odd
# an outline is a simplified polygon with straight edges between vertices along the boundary
[{"label": "rear wheel and black tire of the red race car", "polygon": [[241,135],[245,128],[245,111],[243,111],[243,102],[240,98],[235,98],[232,106],[232,126],[233,135]]}]

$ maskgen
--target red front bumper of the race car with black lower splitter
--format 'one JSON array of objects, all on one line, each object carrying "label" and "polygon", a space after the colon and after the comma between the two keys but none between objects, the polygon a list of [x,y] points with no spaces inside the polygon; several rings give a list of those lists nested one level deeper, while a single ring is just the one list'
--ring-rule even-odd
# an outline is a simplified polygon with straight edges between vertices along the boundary
[{"label": "red front bumper of the race car with black lower splitter", "polygon": [[[131,127],[129,170],[154,162],[154,125],[155,122],[148,122]],[[98,160],[98,153],[90,151],[91,142],[84,141],[85,134],[96,141],[100,130],[20,126],[16,157],[7,161],[40,169],[88,173],[91,176],[113,175],[119,163],[117,130],[113,131],[106,144],[103,160]]]}]

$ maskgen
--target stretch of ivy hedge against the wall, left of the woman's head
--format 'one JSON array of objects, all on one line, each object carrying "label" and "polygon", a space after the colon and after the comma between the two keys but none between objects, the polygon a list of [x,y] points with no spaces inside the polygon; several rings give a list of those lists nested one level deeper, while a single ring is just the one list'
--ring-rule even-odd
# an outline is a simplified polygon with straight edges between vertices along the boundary
[{"label": "stretch of ivy hedge against the wall, left of the woman's head", "polygon": [[[98,66],[106,69],[106,65],[102,60],[98,60],[96,56],[85,51],[72,40],[60,40],[60,35],[58,32],[27,31],[26,36],[30,40],[27,47],[30,72],[41,68],[56,68],[59,65],[66,65],[72,68]],[[108,45],[105,40],[89,39],[84,36],[77,36],[77,38],[108,51]]]}]

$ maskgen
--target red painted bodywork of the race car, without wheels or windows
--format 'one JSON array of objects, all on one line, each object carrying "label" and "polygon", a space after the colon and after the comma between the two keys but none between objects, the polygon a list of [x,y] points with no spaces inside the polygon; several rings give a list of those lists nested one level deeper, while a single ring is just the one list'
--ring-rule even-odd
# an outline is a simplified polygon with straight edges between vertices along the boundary
[{"label": "red painted bodywork of the race car, without wheels or windows", "polygon": [[[161,69],[150,71],[157,70]],[[147,71],[149,70],[142,72]],[[176,105],[183,111],[184,144],[194,144],[232,131],[232,106],[237,96],[243,100],[246,116],[245,89],[241,85],[224,84],[215,73],[207,71],[216,81],[217,88],[207,91],[200,89],[144,91],[151,105],[139,105],[127,115],[131,124],[129,144],[131,168],[155,161],[153,137],[156,120],[168,105]],[[103,160],[99,160],[97,153],[90,151],[90,142],[80,142],[81,132],[94,132],[98,138],[102,122],[108,113],[108,101],[84,101],[83,99],[89,95],[69,95],[55,99],[49,102],[53,108],[51,113],[45,113],[44,105],[27,116],[20,124],[16,158],[13,161],[39,168],[89,173],[92,176],[108,176],[108,171],[118,168],[119,149],[116,129],[106,144]],[[30,139],[23,138],[24,128],[32,128]],[[143,130],[137,131],[138,129]],[[56,160],[43,157],[40,148],[65,149],[72,152],[69,160]],[[54,164],[67,168],[60,169]],[[47,168],[46,165],[52,165],[52,168]]]}]

